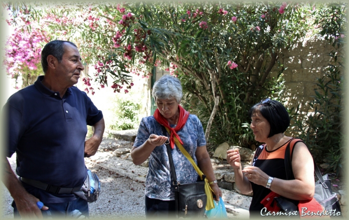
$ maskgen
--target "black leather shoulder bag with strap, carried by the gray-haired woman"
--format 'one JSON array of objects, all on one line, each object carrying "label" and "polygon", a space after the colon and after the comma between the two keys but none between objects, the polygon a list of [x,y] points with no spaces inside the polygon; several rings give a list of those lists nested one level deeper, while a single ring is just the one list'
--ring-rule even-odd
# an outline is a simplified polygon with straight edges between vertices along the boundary
[{"label": "black leather shoulder bag with strap, carried by the gray-haired woman", "polygon": [[[166,134],[167,132],[165,127],[162,126],[162,128],[163,133]],[[202,180],[198,178],[198,181],[195,183],[180,184],[177,181],[175,174],[174,161],[172,158],[169,140],[167,140],[165,145],[169,156],[171,181],[175,193],[175,210],[177,211],[177,217],[191,219],[204,218],[207,203],[204,181],[205,176],[202,175]]]}]

